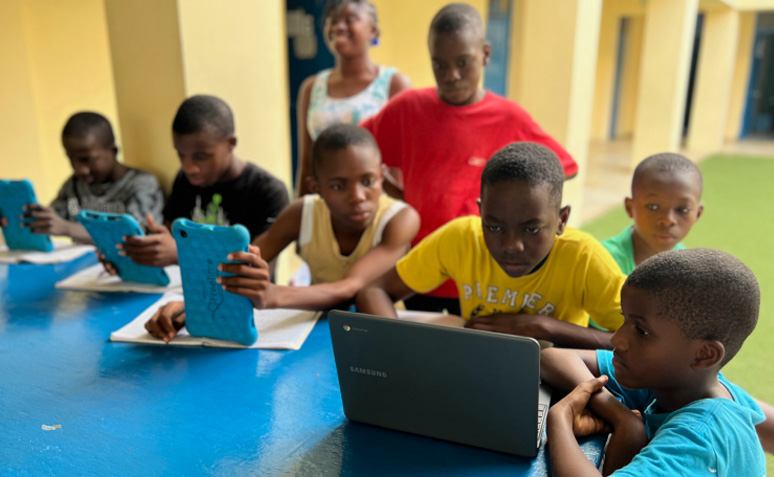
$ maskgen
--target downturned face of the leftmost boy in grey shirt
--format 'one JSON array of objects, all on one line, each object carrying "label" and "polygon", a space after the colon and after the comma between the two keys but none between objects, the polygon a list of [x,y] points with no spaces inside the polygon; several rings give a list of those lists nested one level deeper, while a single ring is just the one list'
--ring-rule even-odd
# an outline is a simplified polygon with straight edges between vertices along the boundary
[{"label": "downturned face of the leftmost boy in grey shirt", "polygon": [[85,137],[65,136],[62,138],[62,145],[70,159],[73,174],[87,184],[107,181],[118,164],[118,149],[104,147],[94,134]]}]

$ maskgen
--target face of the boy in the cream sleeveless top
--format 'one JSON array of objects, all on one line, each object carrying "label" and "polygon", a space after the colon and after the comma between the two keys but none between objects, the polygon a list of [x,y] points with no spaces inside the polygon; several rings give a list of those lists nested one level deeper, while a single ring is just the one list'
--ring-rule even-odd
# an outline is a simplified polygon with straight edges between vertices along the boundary
[{"label": "face of the boy in the cream sleeveless top", "polygon": [[373,220],[382,194],[382,162],[371,146],[347,146],[325,153],[312,190],[331,211],[334,227],[363,230]]}]

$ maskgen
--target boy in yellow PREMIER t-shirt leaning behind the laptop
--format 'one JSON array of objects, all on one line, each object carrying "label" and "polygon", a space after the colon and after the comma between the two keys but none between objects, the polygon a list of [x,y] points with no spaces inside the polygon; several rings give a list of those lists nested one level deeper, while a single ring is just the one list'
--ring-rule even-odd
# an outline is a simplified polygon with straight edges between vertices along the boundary
[{"label": "boy in yellow PREMIER t-shirt leaning behind the laptop", "polygon": [[610,348],[621,325],[624,276],[590,235],[566,227],[564,172],[548,148],[514,143],[481,175],[481,218],[439,228],[357,295],[359,311],[395,316],[393,300],[451,278],[468,327],[560,346]]}]

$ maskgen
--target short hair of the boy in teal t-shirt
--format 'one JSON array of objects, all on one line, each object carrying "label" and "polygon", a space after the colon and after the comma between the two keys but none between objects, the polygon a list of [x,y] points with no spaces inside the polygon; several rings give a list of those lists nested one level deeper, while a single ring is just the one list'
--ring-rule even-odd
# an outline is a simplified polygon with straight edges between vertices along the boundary
[{"label": "short hair of the boy in teal t-shirt", "polygon": [[753,272],[720,250],[662,252],[642,262],[626,285],[648,293],[687,339],[717,340],[733,358],[758,322],[761,293]]}]

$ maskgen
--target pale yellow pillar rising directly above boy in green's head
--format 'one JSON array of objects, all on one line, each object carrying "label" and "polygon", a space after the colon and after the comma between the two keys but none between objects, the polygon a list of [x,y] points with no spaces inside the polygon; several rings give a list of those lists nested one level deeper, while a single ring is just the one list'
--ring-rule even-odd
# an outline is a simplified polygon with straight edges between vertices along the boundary
[{"label": "pale yellow pillar rising directly above boy in green's head", "polygon": [[632,164],[680,147],[698,3],[647,3]]}]

